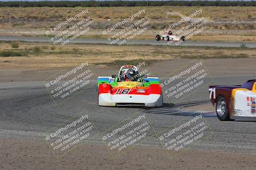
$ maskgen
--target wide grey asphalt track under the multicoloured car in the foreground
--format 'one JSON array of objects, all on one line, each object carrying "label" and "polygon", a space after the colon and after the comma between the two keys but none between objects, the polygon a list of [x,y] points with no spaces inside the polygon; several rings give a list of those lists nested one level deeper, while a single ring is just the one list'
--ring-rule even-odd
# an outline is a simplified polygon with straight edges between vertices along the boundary
[{"label": "wide grey asphalt track under the multicoloured car in the foreground", "polygon": [[[230,84],[235,80],[244,79],[246,78],[243,76],[233,76],[229,79],[216,77],[214,83]],[[49,129],[62,124],[76,113],[86,110],[98,129],[98,133],[93,134],[88,142],[102,143],[102,132],[139,111],[145,113],[156,132],[163,132],[168,131],[179,120],[194,113],[183,111],[182,107],[209,102],[207,101],[207,87],[204,87],[195,96],[188,97],[184,103],[174,106],[164,101],[163,108],[100,107],[97,105],[95,82],[92,81],[90,87],[60,105],[52,101],[42,81],[0,83],[0,137],[44,141],[45,132]],[[221,122],[214,113],[205,112],[202,115],[211,127],[205,133],[211,135],[193,145],[193,148],[256,153],[255,122]],[[157,138],[143,141],[141,145],[149,143],[156,147],[161,146]]]}]

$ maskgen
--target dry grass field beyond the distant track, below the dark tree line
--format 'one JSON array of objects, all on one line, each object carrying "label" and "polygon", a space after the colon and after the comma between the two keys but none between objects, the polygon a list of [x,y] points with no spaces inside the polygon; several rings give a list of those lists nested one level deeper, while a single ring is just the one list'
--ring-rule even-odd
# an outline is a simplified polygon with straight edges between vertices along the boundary
[{"label": "dry grass field beyond the distant track, below the dark tree line", "polygon": [[[0,36],[45,36],[46,30],[84,9],[86,8],[0,8]],[[154,39],[159,31],[180,20],[180,15],[168,15],[166,13],[168,11],[176,11],[181,15],[188,16],[195,10],[200,10],[200,7],[90,7],[88,8],[89,14],[84,15],[84,18],[88,16],[93,18],[92,31],[81,38],[108,38],[102,35],[102,29],[130,17],[141,9],[145,9],[146,14],[140,15],[139,18],[147,16],[152,23],[146,32],[136,36],[135,39]],[[202,13],[196,17],[205,17],[210,22],[204,27],[204,31],[191,38],[192,41],[255,41],[256,39],[256,7],[205,6],[202,7]],[[67,27],[63,27],[63,29],[67,29]],[[180,28],[177,27],[177,29]],[[173,31],[175,32],[175,30]]]}]

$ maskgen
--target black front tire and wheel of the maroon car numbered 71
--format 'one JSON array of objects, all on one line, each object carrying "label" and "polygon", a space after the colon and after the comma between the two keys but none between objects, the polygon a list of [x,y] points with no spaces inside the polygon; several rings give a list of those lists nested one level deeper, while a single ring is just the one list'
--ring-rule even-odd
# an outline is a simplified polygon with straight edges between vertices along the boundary
[{"label": "black front tire and wheel of the maroon car numbered 71", "polygon": [[224,96],[219,96],[216,101],[216,114],[221,121],[230,120],[228,106]]}]

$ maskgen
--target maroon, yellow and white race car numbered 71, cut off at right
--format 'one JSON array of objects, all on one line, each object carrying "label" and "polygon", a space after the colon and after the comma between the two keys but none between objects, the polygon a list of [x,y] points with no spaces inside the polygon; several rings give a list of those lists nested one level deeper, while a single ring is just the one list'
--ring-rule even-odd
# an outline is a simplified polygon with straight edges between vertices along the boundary
[{"label": "maroon, yellow and white race car numbered 71, cut off at right", "polygon": [[220,120],[256,120],[256,80],[243,85],[210,86],[209,94]]}]

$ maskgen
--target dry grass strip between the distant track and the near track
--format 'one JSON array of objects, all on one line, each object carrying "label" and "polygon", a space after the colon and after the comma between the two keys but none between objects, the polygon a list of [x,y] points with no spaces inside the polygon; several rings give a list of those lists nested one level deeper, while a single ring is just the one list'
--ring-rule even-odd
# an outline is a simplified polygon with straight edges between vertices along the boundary
[{"label": "dry grass strip between the distant track and the near track", "polygon": [[[36,50],[40,48],[40,50]],[[55,48],[55,49],[54,49]],[[210,48],[166,46],[109,46],[109,45],[65,45],[54,46],[44,43],[20,43],[13,49],[10,43],[1,43],[0,52],[20,52],[27,56],[0,57],[0,67],[47,69],[77,66],[88,61],[95,65],[131,62],[134,60],[172,60],[172,59],[224,59],[256,57],[256,49],[251,48]]]}]

